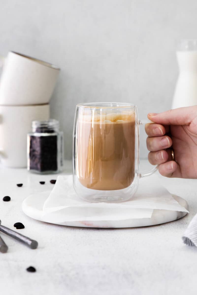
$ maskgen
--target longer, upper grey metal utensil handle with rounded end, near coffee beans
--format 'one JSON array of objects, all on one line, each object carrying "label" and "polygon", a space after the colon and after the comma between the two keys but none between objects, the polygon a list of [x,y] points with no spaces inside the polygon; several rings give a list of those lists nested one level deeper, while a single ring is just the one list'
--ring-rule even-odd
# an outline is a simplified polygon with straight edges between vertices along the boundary
[{"label": "longer, upper grey metal utensil handle with rounded end, near coffee beans", "polygon": [[28,237],[25,237],[24,235],[21,235],[18,232],[15,232],[14,230],[11,230],[8,227],[1,225],[1,220],[0,220],[0,231],[17,241],[22,242],[23,244],[25,244],[27,247],[31,249],[36,249],[38,247],[37,241],[32,240]]}]

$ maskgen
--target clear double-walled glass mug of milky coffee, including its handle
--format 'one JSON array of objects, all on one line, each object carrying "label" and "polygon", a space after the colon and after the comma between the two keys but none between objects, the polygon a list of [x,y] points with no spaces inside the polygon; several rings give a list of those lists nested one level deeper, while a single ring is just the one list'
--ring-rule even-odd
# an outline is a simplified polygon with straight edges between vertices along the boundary
[{"label": "clear double-walled glass mug of milky coffee, including its handle", "polygon": [[[146,122],[146,123],[150,123]],[[139,178],[139,125],[137,107],[126,103],[76,105],[73,131],[73,185],[90,202],[131,199]]]}]

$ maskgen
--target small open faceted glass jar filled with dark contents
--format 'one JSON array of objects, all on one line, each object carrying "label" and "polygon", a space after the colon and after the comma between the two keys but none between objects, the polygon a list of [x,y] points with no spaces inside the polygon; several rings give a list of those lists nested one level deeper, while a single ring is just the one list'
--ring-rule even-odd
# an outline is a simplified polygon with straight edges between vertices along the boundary
[{"label": "small open faceted glass jar filled with dark contents", "polygon": [[31,172],[58,173],[64,165],[64,138],[59,121],[32,121],[27,134],[27,169]]}]

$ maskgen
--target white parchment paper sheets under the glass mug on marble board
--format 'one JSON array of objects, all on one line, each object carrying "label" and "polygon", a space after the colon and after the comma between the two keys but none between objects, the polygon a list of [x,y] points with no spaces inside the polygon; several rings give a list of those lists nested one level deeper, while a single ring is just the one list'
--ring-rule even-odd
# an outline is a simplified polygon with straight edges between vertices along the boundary
[{"label": "white parchment paper sheets under the glass mug on marble board", "polygon": [[120,203],[91,203],[80,199],[74,191],[72,175],[58,176],[53,190],[45,194],[49,196],[43,212],[51,215],[51,222],[151,218],[154,209],[188,212],[155,175],[142,178],[133,198]]}]

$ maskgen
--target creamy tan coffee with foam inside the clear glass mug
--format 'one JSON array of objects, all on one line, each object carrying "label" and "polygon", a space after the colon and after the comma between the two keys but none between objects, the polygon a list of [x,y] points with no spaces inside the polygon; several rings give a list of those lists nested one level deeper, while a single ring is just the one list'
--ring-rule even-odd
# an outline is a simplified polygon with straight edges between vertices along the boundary
[{"label": "creamy tan coffee with foam inside the clear glass mug", "polygon": [[79,113],[76,175],[80,183],[95,190],[124,189],[133,182],[134,172],[134,112]]}]

